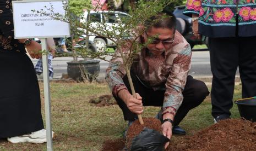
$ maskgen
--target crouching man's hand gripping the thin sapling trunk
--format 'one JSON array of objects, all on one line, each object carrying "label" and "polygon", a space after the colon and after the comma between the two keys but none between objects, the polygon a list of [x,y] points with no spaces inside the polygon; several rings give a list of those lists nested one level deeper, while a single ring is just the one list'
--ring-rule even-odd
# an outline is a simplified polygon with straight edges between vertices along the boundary
[{"label": "crouching man's hand gripping the thin sapling trunk", "polygon": [[126,89],[120,90],[118,96],[126,103],[130,112],[135,114],[143,113],[142,97],[136,93],[136,98],[130,95],[130,92]]}]

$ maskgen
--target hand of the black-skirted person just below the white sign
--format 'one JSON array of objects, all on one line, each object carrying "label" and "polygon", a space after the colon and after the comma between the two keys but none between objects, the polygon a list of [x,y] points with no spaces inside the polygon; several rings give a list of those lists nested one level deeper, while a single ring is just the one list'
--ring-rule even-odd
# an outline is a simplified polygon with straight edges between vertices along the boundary
[{"label": "hand of the black-skirted person just below the white sign", "polygon": [[42,50],[41,45],[34,40],[31,40],[31,43],[26,46],[26,51],[28,51],[28,53],[32,57],[32,59],[42,58],[41,50]]}]

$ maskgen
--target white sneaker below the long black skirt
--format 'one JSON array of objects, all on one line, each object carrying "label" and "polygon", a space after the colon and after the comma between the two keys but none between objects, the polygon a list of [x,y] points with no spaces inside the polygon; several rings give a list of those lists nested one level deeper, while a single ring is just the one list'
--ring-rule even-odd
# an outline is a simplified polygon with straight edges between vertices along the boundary
[{"label": "white sneaker below the long black skirt", "polygon": [[[54,136],[54,132],[52,131],[52,137]],[[42,129],[39,131],[32,132],[31,134],[9,137],[7,138],[8,142],[11,143],[45,143],[46,142],[46,130]]]}]

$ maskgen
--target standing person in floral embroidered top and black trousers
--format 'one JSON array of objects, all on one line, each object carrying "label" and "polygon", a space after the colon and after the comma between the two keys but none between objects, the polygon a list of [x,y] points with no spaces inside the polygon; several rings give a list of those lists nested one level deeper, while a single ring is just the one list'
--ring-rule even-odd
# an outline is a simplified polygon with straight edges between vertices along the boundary
[{"label": "standing person in floral embroidered top and black trousers", "polygon": [[188,0],[183,12],[192,16],[194,36],[209,38],[214,123],[230,118],[237,67],[242,97],[256,96],[255,8],[254,1]]}]

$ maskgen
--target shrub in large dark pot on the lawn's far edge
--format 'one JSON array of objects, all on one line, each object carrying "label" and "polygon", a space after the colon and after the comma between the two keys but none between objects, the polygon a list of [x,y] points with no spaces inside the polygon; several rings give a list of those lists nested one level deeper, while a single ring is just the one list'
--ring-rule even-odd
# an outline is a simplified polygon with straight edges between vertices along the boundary
[{"label": "shrub in large dark pot on the lawn's far edge", "polygon": [[[90,9],[91,5],[89,1],[71,1],[69,3],[70,5],[70,20],[77,21],[81,13],[83,13],[84,8]],[[83,6],[83,7],[81,7]],[[80,9],[79,9],[80,8]],[[80,11],[79,11],[80,10]],[[90,13],[88,14],[88,19],[90,20]],[[73,61],[67,62],[67,73],[70,78],[74,80],[84,81],[89,80],[89,82],[92,82],[97,78],[97,75],[100,73],[100,60],[94,60],[94,58],[84,57],[84,60],[79,60],[78,57],[81,56],[76,50],[80,51],[96,51],[95,44],[91,41],[89,41],[88,32],[86,32],[86,37],[81,37],[78,33],[77,27],[73,26],[73,24],[70,24],[71,26],[71,39],[70,39],[70,45],[72,46],[72,56]],[[86,50],[81,50],[86,49]],[[83,56],[81,56],[83,57]]]}]

